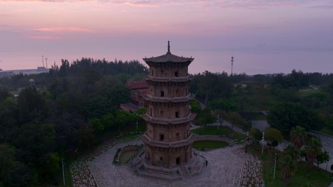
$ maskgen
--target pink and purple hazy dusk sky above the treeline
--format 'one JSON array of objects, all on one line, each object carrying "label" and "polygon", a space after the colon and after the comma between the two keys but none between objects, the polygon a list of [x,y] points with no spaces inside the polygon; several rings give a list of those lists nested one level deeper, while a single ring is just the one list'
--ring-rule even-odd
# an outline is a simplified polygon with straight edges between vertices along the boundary
[{"label": "pink and purple hazy dusk sky above the treeline", "polygon": [[333,72],[333,0],[0,0],[0,68],[192,56],[190,73]]}]

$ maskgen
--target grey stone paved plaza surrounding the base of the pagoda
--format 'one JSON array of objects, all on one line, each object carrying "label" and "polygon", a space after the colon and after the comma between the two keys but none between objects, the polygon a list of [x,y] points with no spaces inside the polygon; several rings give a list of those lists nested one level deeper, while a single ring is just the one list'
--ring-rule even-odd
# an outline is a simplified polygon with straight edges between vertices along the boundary
[{"label": "grey stone paved plaza surrounding the base of the pagoda", "polygon": [[200,152],[207,161],[201,174],[185,180],[167,181],[140,176],[129,165],[112,164],[120,147],[140,140],[108,141],[72,166],[74,187],[262,187],[260,161],[244,153],[244,145]]}]

